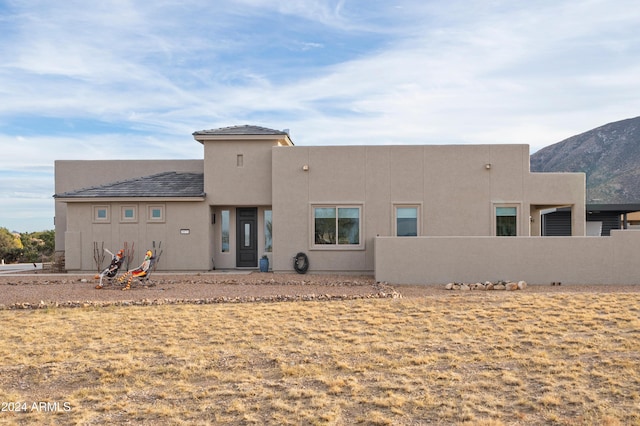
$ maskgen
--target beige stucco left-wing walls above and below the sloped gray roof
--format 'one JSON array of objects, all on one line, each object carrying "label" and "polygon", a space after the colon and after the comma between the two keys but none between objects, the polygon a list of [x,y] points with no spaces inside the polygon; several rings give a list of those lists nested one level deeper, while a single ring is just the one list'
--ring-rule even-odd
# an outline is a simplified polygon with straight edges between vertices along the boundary
[{"label": "beige stucco left-wing walls above and below the sloped gray roof", "polygon": [[[204,171],[203,160],[58,160],[55,162],[55,192],[63,193],[116,181],[149,176],[167,171]],[[109,224],[93,222],[94,205],[109,205]],[[144,219],[148,204],[164,204],[166,220],[149,223]],[[136,223],[120,223],[122,205],[134,205],[138,211]],[[144,251],[152,242],[162,241],[164,252],[158,265],[162,269],[206,269],[211,264],[207,244],[210,220],[204,202],[179,200],[117,200],[96,202],[55,201],[56,250],[65,251],[65,267],[69,271],[93,271],[93,242],[104,242],[104,247],[118,250],[123,242],[135,243],[136,258],[131,264],[142,262]],[[190,234],[180,234],[180,229],[190,229]],[[177,254],[180,254],[179,256]],[[184,259],[182,259],[184,257]],[[179,261],[178,261],[179,259]],[[105,261],[106,262],[106,261]],[[137,265],[136,265],[137,266]]]}]

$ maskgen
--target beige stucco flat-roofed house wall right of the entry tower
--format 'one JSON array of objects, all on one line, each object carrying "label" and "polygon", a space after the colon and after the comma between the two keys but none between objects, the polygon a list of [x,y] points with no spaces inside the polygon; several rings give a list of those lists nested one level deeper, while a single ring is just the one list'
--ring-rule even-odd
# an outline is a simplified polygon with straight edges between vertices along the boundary
[{"label": "beige stucco flat-roofed house wall right of the entry tower", "polygon": [[[396,204],[420,206],[423,236],[494,235],[501,204],[518,208],[518,235],[530,235],[539,205],[574,208],[584,235],[584,175],[531,174],[527,145],[277,147],[272,182],[276,271],[302,251],[311,271],[372,273],[374,238],[392,235]],[[363,246],[314,247],[318,204],[360,206]]]}]

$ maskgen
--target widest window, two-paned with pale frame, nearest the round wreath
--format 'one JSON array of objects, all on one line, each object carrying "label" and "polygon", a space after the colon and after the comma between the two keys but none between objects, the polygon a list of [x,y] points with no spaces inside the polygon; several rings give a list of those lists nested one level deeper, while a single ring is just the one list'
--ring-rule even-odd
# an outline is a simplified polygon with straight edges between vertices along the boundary
[{"label": "widest window, two-paned with pale frame, nearest the round wreath", "polygon": [[316,246],[360,246],[360,207],[314,207]]}]

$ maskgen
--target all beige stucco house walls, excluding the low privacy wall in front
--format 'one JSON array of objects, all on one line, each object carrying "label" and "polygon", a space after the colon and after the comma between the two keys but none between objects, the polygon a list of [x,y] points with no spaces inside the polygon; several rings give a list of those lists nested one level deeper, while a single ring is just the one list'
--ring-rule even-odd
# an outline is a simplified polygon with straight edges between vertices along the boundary
[{"label": "all beige stucco house walls, excluding the low privacy wall in front", "polygon": [[[560,206],[573,209],[574,235],[584,235],[584,175],[530,173],[526,145],[294,147],[283,136],[203,139],[204,160],[56,162],[56,193],[171,170],[205,173],[206,199],[200,202],[98,201],[111,206],[109,226],[92,221],[97,203],[56,202],[56,247],[68,246],[67,268],[94,270],[94,241],[110,250],[135,242],[140,256],[152,241],[162,241],[161,270],[206,270],[214,262],[218,269],[234,268],[239,206],[258,208],[258,256],[264,253],[264,211],[273,210],[269,256],[275,271],[292,271],[292,258],[302,251],[311,272],[373,273],[379,260],[374,240],[393,235],[396,204],[419,206],[422,236],[491,236],[500,204],[518,208],[518,235],[536,235],[539,211]],[[166,204],[163,223],[146,223],[142,216],[135,224],[119,222],[121,205],[136,203],[143,212],[148,202]],[[314,247],[312,207],[320,204],[361,208],[361,246]],[[229,253],[221,252],[225,209]]]}]

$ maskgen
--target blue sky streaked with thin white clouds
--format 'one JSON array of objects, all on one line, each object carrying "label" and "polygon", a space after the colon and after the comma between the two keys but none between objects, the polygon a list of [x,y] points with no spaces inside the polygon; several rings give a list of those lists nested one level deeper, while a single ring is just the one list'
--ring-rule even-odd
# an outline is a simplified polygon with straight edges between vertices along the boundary
[{"label": "blue sky streaked with thin white clouds", "polygon": [[0,0],[0,227],[53,229],[57,159],[526,143],[640,115],[635,0]]}]

